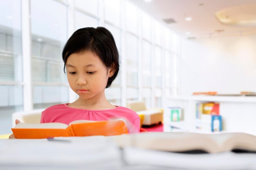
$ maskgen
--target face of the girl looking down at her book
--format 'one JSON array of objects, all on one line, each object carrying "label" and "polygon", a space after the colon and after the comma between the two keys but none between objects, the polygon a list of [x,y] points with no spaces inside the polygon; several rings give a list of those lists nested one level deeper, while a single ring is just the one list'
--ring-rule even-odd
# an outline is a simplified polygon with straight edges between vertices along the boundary
[{"label": "face of the girl looking down at her book", "polygon": [[67,80],[71,89],[83,99],[105,95],[108,78],[114,73],[91,51],[73,53],[66,62]]}]

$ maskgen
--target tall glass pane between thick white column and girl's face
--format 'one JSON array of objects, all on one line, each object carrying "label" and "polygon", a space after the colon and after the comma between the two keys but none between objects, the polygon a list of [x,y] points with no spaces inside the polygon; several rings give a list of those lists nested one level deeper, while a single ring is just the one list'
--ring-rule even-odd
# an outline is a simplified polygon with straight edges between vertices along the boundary
[{"label": "tall glass pane between thick white column and girl's face", "polygon": [[52,86],[67,83],[61,57],[67,41],[67,7],[54,0],[31,0],[31,33],[34,108],[67,102],[67,86]]}]

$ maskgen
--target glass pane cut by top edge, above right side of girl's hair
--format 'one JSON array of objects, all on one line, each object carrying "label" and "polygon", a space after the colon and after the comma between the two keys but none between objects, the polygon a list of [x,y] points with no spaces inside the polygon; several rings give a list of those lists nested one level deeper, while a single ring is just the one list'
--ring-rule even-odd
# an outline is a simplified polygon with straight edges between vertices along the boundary
[{"label": "glass pane cut by top edge, above right side of girl's hair", "polygon": [[120,26],[120,0],[105,0],[105,20]]}]

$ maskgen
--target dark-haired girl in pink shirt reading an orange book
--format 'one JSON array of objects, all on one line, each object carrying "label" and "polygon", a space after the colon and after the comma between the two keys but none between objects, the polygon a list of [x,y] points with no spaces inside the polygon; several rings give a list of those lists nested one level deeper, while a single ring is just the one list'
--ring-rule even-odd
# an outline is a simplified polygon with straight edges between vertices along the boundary
[{"label": "dark-haired girl in pink shirt reading an orange book", "polygon": [[44,110],[40,123],[108,120],[125,118],[130,133],[139,132],[139,116],[134,111],[114,106],[105,97],[119,71],[119,54],[115,40],[106,28],[82,28],[73,33],[64,46],[62,57],[70,88],[79,98]]}]

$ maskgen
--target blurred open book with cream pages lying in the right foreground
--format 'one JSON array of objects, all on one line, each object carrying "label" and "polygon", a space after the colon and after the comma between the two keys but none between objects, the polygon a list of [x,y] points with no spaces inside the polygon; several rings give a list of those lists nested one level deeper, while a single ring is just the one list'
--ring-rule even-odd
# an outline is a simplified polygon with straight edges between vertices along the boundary
[{"label": "blurred open book with cream pages lying in the right foreground", "polygon": [[199,134],[191,132],[145,132],[113,137],[120,147],[184,153],[225,151],[255,152],[256,136],[246,133]]}]

